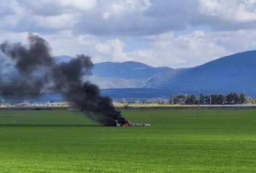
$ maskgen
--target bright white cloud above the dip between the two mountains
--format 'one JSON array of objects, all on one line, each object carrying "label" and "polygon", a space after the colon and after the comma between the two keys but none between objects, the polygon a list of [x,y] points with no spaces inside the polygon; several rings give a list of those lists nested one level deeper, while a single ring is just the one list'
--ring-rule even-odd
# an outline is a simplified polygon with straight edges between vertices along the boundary
[{"label": "bright white cloud above the dip between the two mountains", "polygon": [[133,51],[129,55],[134,61],[139,60],[154,67],[193,67],[227,53],[225,47],[218,45],[211,33],[201,30],[183,36],[166,32],[143,39],[147,40],[147,48]]}]

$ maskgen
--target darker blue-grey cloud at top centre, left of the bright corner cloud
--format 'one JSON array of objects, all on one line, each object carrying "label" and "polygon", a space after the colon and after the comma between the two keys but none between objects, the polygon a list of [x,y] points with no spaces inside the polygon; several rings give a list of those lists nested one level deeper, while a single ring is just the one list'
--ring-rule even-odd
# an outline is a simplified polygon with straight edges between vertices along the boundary
[{"label": "darker blue-grey cloud at top centre, left of the bright corner cloud", "polygon": [[[185,29],[196,18],[196,1],[152,1],[145,11],[127,11],[103,19],[103,11],[93,11],[81,18],[77,31],[96,35],[151,35]],[[93,19],[93,20],[90,20]],[[97,26],[97,27],[95,27]]]}]

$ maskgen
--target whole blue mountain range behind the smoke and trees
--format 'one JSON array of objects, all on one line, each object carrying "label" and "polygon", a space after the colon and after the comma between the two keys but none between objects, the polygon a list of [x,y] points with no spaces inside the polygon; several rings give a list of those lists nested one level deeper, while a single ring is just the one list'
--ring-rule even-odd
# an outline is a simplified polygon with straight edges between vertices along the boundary
[{"label": "whole blue mountain range behind the smoke and trees", "polygon": [[[58,61],[73,57],[58,56]],[[92,59],[93,60],[93,59]],[[4,62],[0,59],[1,63]],[[171,94],[245,93],[256,96],[256,51],[241,52],[194,68],[151,67],[140,62],[95,63],[92,76],[84,77],[103,95],[119,98],[169,98]],[[3,72],[3,68],[0,69]],[[3,74],[3,73],[2,73]],[[200,89],[199,89],[200,88]]]}]

